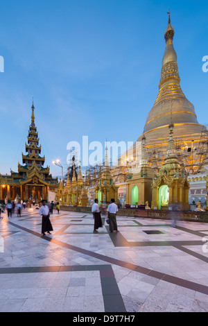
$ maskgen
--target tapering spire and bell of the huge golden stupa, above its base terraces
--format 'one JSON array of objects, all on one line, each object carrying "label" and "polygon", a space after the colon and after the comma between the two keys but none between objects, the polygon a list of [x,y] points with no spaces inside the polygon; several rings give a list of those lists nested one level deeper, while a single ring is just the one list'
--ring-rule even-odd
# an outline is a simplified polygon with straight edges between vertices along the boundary
[{"label": "tapering spire and bell of the huge golden stupa, above its base terraces", "polygon": [[[164,33],[166,49],[162,59],[159,92],[152,110],[148,113],[144,132],[167,126],[170,108],[173,108],[173,122],[198,124],[194,106],[184,96],[180,87],[180,76],[177,67],[177,55],[173,47],[174,28],[171,25],[170,11],[168,26]],[[148,137],[147,137],[148,138]]]}]

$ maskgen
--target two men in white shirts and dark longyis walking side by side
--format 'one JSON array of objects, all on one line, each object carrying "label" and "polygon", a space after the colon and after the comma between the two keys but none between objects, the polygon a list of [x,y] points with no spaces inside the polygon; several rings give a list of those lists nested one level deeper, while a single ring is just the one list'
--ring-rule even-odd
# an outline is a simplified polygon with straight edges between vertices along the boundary
[{"label": "two men in white shirts and dark longyis walking side by side", "polygon": [[[102,211],[105,214],[105,209],[101,207]],[[111,199],[110,205],[107,207],[107,217],[109,219],[109,230],[110,233],[116,231],[119,232],[116,222],[116,214],[118,212],[118,206],[115,204],[114,198]],[[98,205],[98,199],[94,200],[94,204],[92,205],[92,214],[94,217],[94,233],[98,233],[98,228],[102,228],[103,223],[101,219],[100,207]]]}]

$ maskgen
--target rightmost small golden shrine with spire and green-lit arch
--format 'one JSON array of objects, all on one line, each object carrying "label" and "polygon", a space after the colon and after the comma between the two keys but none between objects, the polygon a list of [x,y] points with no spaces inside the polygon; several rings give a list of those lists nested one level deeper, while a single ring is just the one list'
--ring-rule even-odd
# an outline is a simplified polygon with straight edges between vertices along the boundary
[{"label": "rightmost small golden shrine with spire and green-lit arch", "polygon": [[177,160],[173,139],[173,123],[169,125],[169,141],[166,157],[152,185],[152,209],[168,209],[177,205],[177,209],[189,209],[189,182],[187,173]]}]

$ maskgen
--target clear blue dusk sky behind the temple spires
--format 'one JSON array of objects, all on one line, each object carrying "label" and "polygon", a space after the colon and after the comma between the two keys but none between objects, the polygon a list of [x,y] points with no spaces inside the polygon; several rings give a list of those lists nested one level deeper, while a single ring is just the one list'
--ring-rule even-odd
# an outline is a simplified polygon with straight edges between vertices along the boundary
[{"label": "clear blue dusk sky behind the temple spires", "polygon": [[54,176],[56,158],[66,171],[69,141],[136,141],[157,97],[169,8],[182,91],[207,125],[208,1],[0,3],[0,173],[22,163],[33,98]]}]

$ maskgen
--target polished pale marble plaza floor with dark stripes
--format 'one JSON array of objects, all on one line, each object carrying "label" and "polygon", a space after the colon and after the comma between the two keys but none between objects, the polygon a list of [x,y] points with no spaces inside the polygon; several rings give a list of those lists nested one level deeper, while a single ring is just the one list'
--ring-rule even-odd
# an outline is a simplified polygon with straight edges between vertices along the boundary
[{"label": "polished pale marble plaza floor with dark stripes", "polygon": [[38,210],[0,221],[0,311],[208,311],[208,224],[117,216],[93,233],[92,214]]}]

